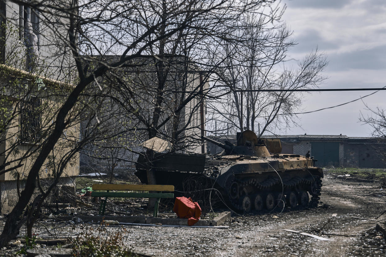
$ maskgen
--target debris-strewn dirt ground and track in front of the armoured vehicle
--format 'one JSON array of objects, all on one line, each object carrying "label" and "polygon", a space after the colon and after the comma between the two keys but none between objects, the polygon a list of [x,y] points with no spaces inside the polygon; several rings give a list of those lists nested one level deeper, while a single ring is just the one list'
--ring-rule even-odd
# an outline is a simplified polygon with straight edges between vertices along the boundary
[{"label": "debris-strewn dirt ground and track in front of the armoured vehicle", "polygon": [[[379,182],[340,180],[325,173],[323,203],[318,208],[235,215],[223,224],[229,227],[222,229],[127,226],[123,240],[134,252],[154,256],[385,256],[385,240],[375,225],[384,226],[386,215],[377,221],[354,218],[375,219],[381,214],[386,209],[384,192]],[[336,217],[332,217],[334,213]],[[99,225],[64,222],[56,224],[55,232],[76,235],[80,226],[91,229]],[[44,235],[46,229],[39,227],[37,232]],[[114,233],[122,228],[112,225],[108,230]]]}]

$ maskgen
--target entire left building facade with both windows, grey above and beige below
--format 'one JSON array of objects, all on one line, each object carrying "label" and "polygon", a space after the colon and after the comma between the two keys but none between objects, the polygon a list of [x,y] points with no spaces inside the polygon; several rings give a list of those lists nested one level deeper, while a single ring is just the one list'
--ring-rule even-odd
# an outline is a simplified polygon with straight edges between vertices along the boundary
[{"label": "entire left building facade with both windows, grey above and beige below", "polygon": [[[52,28],[41,21],[37,10],[10,1],[0,1],[0,13],[0,211],[8,213],[19,200],[42,141],[52,131],[73,77],[69,49],[58,36],[65,18]],[[68,127],[64,134],[41,168],[42,188],[51,184],[56,165],[70,151],[71,140],[78,138],[79,127]],[[64,166],[59,187],[71,191],[78,174],[76,154]]]}]

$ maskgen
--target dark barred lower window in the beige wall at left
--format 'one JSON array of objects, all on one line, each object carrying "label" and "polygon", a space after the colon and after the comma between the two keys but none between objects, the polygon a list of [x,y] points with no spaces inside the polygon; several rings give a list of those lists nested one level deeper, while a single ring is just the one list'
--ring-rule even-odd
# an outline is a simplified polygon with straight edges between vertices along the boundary
[{"label": "dark barred lower window in the beige wall at left", "polygon": [[20,139],[25,143],[38,143],[41,139],[41,99],[30,97],[20,103]]}]

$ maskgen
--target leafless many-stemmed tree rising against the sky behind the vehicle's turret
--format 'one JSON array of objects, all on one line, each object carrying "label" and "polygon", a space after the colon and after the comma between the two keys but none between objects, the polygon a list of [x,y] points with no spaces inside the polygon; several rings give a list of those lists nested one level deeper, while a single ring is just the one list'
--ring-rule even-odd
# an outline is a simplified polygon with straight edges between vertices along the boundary
[{"label": "leafless many-stemmed tree rising against the sky behind the vehicle's turret", "polygon": [[242,33],[244,40],[224,47],[224,89],[230,94],[211,105],[213,120],[223,123],[218,125],[222,133],[230,127],[233,133],[251,129],[261,136],[265,131],[288,127],[296,120],[293,113],[303,95],[264,90],[317,87],[325,79],[321,75],[327,66],[325,54],[315,50],[298,62],[298,69],[283,69],[288,50],[296,43],[285,24],[276,27],[264,15],[259,19],[247,16],[232,33]]}]

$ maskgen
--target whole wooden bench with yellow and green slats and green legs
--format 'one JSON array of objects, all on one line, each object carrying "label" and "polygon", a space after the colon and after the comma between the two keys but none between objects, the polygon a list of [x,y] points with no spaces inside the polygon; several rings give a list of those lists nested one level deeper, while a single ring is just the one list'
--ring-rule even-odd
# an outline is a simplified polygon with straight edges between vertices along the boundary
[{"label": "whole wooden bench with yellow and green slats and green legs", "polygon": [[[162,193],[164,191],[174,192],[174,186],[172,185],[93,184],[92,188],[91,197],[105,197],[105,199],[101,200],[99,215],[105,215],[108,197],[156,198],[153,217],[157,217],[158,215],[158,205],[161,198],[174,198],[174,193]],[[143,193],[138,191],[157,191],[157,193]]]}]

